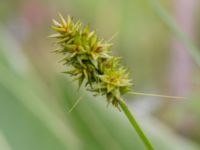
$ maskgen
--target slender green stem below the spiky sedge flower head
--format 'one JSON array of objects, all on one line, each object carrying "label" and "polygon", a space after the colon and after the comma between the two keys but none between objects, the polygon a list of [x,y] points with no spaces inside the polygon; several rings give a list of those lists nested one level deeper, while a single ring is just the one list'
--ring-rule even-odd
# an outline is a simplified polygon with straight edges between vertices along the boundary
[{"label": "slender green stem below the spiky sedge flower head", "polygon": [[120,107],[123,110],[124,114],[126,115],[126,117],[128,118],[128,120],[130,121],[131,125],[134,127],[134,129],[136,130],[137,134],[139,135],[140,139],[143,141],[143,143],[145,144],[146,148],[148,150],[154,150],[151,142],[149,141],[149,139],[146,137],[146,135],[144,134],[144,132],[142,131],[140,125],[137,123],[136,119],[134,118],[134,116],[131,114],[130,110],[128,109],[128,106],[126,105],[124,100],[120,100]]}]

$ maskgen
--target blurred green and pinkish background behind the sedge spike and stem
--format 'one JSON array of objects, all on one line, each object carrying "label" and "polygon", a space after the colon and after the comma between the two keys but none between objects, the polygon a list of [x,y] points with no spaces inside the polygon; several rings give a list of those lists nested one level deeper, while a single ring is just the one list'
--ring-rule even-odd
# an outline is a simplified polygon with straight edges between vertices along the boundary
[{"label": "blurred green and pinkish background behind the sedge spike and stem", "polygon": [[[112,40],[131,71],[131,111],[157,150],[200,149],[199,0],[1,0],[0,150],[145,150],[123,113],[62,74],[51,20]],[[78,106],[68,113],[75,101]]]}]

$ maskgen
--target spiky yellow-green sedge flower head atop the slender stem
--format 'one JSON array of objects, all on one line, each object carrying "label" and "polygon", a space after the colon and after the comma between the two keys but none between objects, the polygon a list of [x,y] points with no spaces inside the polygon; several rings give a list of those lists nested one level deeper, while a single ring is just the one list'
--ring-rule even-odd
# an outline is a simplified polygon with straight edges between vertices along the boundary
[{"label": "spiky yellow-green sedge flower head atop the slender stem", "polygon": [[52,26],[57,33],[50,37],[57,39],[55,52],[64,56],[65,73],[78,80],[79,87],[84,83],[94,95],[106,95],[107,102],[118,107],[121,95],[130,92],[132,84],[126,69],[119,66],[119,58],[112,56],[112,44],[80,21],[59,17],[61,21],[53,20]]}]

